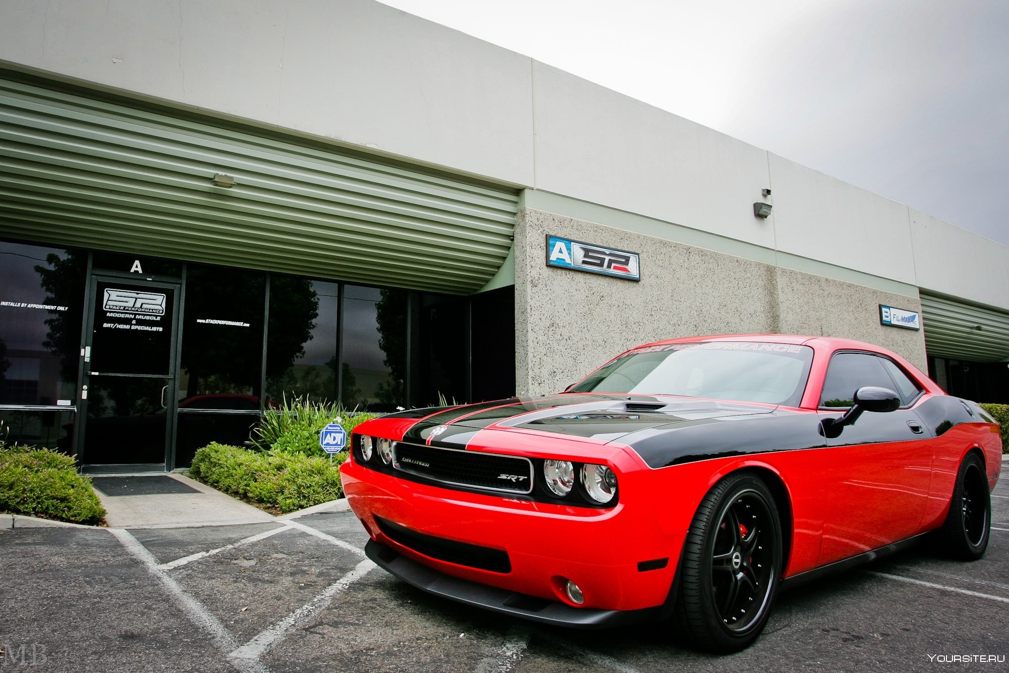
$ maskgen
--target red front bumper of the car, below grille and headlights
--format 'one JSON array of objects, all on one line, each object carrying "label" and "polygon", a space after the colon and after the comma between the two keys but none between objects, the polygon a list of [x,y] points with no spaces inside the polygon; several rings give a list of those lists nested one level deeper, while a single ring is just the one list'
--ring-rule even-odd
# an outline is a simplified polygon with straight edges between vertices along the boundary
[{"label": "red front bumper of the car, below grille and headlights", "polygon": [[[611,509],[561,506],[421,484],[353,462],[341,472],[354,513],[372,541],[395,555],[375,553],[372,559],[427,591],[575,627],[653,618],[670,595],[685,527],[669,530],[662,511],[646,503],[636,506],[623,497]],[[451,555],[428,556],[409,537],[386,535],[388,522],[420,538],[507,554],[508,566],[495,570],[475,561],[446,560]],[[582,589],[582,605],[566,597],[567,580]],[[517,596],[540,602],[534,605]],[[637,616],[615,616],[652,608],[654,612]]]}]

